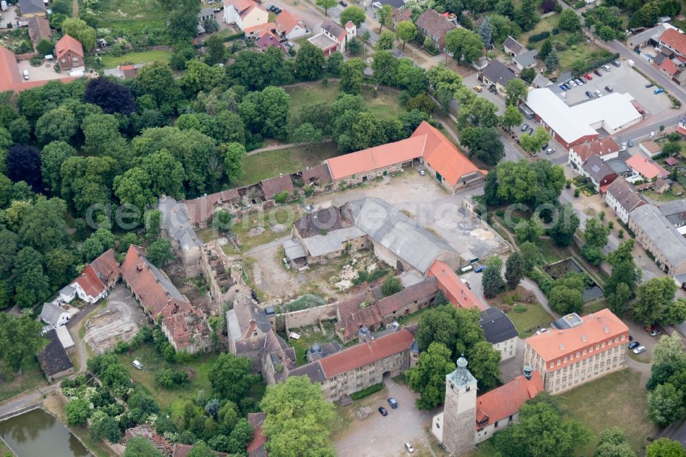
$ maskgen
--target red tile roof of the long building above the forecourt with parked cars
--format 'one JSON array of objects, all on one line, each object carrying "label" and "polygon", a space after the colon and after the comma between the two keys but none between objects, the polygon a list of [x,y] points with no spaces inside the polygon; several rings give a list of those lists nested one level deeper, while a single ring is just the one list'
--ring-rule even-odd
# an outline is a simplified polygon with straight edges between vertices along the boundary
[{"label": "red tile roof of the long building above the forecourt with parked cars", "polygon": [[337,354],[319,361],[326,377],[334,377],[358,366],[364,366],[401,351],[406,351],[414,342],[414,336],[407,329],[382,336],[370,342],[356,344]]}]

